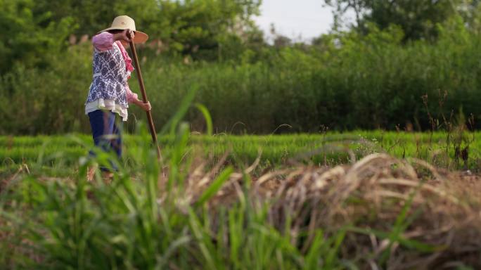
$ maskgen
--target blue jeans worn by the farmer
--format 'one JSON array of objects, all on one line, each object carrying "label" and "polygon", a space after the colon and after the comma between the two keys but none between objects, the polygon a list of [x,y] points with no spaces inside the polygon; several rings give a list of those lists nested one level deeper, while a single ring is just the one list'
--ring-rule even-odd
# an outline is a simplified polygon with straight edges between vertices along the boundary
[{"label": "blue jeans worn by the farmer", "polygon": [[[94,110],[89,113],[90,127],[92,129],[92,138],[95,146],[102,148],[105,152],[113,150],[117,154],[117,158],[122,157],[122,137],[120,129],[115,124],[115,113],[106,110]],[[108,138],[113,135],[113,138]],[[94,155],[91,151],[90,155]],[[101,167],[103,171],[108,170]],[[117,168],[113,168],[117,169]]]}]

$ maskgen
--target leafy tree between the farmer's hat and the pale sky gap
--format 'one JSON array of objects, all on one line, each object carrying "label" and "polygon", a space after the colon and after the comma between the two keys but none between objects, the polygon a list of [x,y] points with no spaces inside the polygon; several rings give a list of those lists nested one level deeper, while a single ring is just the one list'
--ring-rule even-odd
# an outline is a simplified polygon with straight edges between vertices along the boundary
[{"label": "leafy tree between the farmer's hat and the pale sky gap", "polygon": [[245,32],[255,29],[252,15],[259,13],[260,4],[259,0],[164,0],[159,27],[151,31],[173,51],[217,58],[223,44],[239,41],[236,37],[248,39]]}]

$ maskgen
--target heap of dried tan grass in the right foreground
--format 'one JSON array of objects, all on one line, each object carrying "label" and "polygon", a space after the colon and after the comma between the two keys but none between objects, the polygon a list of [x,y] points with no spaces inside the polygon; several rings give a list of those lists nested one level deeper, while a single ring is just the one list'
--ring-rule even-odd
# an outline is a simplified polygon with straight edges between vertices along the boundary
[{"label": "heap of dried tan grass in the right foreground", "polygon": [[[188,176],[188,200],[184,203],[195,203],[221,167],[218,164],[202,174],[204,165]],[[254,167],[231,175],[210,200],[212,212],[242,198],[243,177]],[[290,233],[294,244],[302,250],[307,250],[316,229],[323,229],[328,235],[355,227],[357,231],[345,239],[341,256],[367,269],[449,268],[459,262],[481,268],[479,176],[443,171],[422,160],[408,162],[373,154],[354,165],[296,165],[251,177],[248,199],[252,207],[269,203],[271,225]],[[413,220],[406,221],[400,237],[430,245],[434,247],[432,252],[406,247],[376,233],[359,233],[390,233],[406,204],[409,206],[406,219]],[[287,232],[288,219],[293,222]],[[299,237],[306,232],[307,238]],[[376,259],[386,250],[390,259],[384,266],[376,265]]]}]

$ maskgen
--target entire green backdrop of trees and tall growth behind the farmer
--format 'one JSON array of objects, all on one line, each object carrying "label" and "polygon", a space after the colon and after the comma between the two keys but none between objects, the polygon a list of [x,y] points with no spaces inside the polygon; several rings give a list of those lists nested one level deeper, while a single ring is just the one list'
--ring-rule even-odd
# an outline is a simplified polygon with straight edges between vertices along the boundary
[{"label": "entire green backdrop of trees and tall growth behind the farmer", "polygon": [[[8,14],[0,20],[18,28],[11,30],[13,39],[1,36],[1,41],[38,44],[38,37],[50,43],[32,46],[33,51],[0,46],[8,70],[1,76],[0,113],[5,117],[0,134],[89,132],[83,105],[91,82],[92,48],[89,42],[65,46],[60,37],[107,27],[110,19],[86,12],[103,11],[97,6],[101,3],[1,3],[6,8],[0,12]],[[446,129],[452,112],[461,107],[468,117],[473,115],[474,127],[480,127],[476,59],[481,56],[481,32],[476,30],[479,14],[474,11],[469,22],[452,15],[437,24],[435,42],[406,43],[403,25],[366,23],[365,33],[324,35],[312,46],[267,46],[250,21],[258,5],[234,0],[113,4],[112,14],[129,11],[139,29],[156,40],[139,46],[139,55],[157,127],[169,121],[185,96],[205,105],[212,122],[206,122],[205,110],[195,106],[184,108],[184,117],[176,121],[188,120],[193,130],[214,133],[404,127],[422,131],[433,129],[433,123],[436,129]],[[96,23],[90,22],[94,18]],[[72,26],[68,31],[67,25]],[[82,28],[86,25],[89,29]],[[38,31],[27,39],[23,28]],[[195,96],[188,95],[193,85],[198,86]],[[139,92],[135,78],[130,86]],[[125,129],[134,131],[143,113],[137,108],[129,112]]]}]

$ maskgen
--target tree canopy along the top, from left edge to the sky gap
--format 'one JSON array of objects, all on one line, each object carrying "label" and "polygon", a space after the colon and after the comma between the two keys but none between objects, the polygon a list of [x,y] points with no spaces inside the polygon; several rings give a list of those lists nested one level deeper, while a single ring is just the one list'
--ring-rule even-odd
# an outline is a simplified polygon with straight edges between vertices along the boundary
[{"label": "tree canopy along the top, from left edge to the sky gap", "polygon": [[130,15],[150,34],[151,51],[217,59],[222,51],[241,50],[255,30],[256,0],[1,0],[0,72],[13,65],[51,68],[49,55],[65,53],[67,37],[91,37],[117,15]]}]

